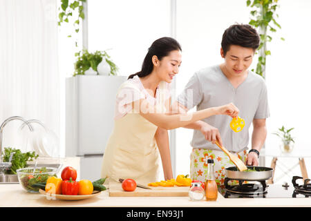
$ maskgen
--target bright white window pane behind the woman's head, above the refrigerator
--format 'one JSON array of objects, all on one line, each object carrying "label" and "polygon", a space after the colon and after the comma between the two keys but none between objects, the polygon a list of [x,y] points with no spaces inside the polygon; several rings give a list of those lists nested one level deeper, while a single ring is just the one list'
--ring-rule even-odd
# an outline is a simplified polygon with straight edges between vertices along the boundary
[{"label": "bright white window pane behind the woman's head, above the refrigerator", "polygon": [[170,1],[88,1],[88,50],[107,50],[119,75],[140,70],[149,46],[170,35]]}]

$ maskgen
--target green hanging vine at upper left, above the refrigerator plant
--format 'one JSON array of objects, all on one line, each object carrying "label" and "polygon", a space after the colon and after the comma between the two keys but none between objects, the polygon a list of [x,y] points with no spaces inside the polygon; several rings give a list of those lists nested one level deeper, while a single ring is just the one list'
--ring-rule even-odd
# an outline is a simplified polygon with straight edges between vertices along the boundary
[{"label": "green hanging vine at upper left, above the refrigerator plant", "polygon": [[[69,19],[72,17],[74,19],[73,28],[76,33],[79,33],[79,23],[85,17],[83,12],[84,2],[86,2],[86,0],[61,0],[61,6],[58,8],[58,25],[61,26],[64,22],[69,23]],[[68,37],[72,37],[72,35],[68,35]],[[75,46],[77,47],[77,39],[75,41]]]}]

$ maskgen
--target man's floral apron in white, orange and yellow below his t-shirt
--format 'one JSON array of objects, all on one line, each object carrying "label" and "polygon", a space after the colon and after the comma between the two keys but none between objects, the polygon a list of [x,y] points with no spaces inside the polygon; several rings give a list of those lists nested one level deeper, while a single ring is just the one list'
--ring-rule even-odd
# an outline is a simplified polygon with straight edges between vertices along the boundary
[{"label": "man's floral apron in white, orange and yellow below his t-shirt", "polygon": [[[237,155],[240,160],[246,162],[247,151],[239,153],[232,153]],[[214,175],[217,186],[225,185],[226,172],[225,169],[229,166],[236,166],[229,157],[218,150],[207,150],[200,148],[193,148],[190,155],[190,177],[192,180],[200,180],[205,182],[207,177],[207,159],[214,160]],[[229,181],[228,184],[238,184],[238,181]]]}]

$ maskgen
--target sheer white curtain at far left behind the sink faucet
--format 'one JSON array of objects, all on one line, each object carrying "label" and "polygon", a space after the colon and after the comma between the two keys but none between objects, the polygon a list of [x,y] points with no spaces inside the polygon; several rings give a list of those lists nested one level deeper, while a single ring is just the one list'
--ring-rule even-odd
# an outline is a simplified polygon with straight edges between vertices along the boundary
[{"label": "sheer white curtain at far left behind the sink faucet", "polygon": [[[39,119],[59,137],[57,49],[56,0],[0,0],[0,123]],[[9,124],[3,146],[17,148],[21,122]]]}]

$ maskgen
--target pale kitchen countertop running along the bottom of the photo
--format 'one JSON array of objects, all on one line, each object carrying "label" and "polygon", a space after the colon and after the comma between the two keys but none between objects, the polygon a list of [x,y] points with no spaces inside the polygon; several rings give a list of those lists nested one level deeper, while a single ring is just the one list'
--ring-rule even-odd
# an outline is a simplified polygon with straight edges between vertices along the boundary
[{"label": "pale kitchen countertop running along the bottom of the photo", "polygon": [[311,207],[311,198],[240,198],[227,199],[218,193],[216,202],[191,202],[187,197],[109,197],[103,191],[94,198],[77,201],[47,200],[40,193],[27,193],[19,184],[0,184],[0,207],[83,206],[83,207],[228,207],[290,206]]}]

